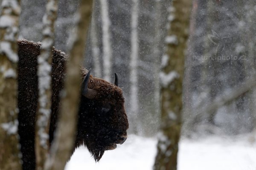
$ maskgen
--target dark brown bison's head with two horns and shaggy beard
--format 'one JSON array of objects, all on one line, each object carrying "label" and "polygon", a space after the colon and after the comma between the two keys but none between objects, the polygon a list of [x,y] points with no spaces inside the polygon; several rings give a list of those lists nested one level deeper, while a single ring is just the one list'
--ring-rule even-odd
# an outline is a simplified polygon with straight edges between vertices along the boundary
[{"label": "dark brown bison's head with two horns and shaggy beard", "polygon": [[95,161],[105,150],[113,150],[127,138],[128,119],[118,77],[111,84],[90,75],[84,77],[81,90],[77,142],[84,142]]}]

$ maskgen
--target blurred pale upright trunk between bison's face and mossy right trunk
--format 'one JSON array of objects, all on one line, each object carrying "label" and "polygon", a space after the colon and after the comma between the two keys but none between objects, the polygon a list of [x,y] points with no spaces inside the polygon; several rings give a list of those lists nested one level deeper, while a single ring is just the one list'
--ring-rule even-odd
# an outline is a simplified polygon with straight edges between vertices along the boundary
[{"label": "blurred pale upright trunk between bison's face and mossy right trunk", "polygon": [[131,83],[131,113],[133,114],[133,122],[135,133],[140,132],[140,118],[137,119],[139,113],[139,100],[138,100],[138,74],[137,74],[137,60],[138,60],[138,11],[139,11],[139,0],[132,0],[131,9],[131,61],[130,61],[130,83]]}]

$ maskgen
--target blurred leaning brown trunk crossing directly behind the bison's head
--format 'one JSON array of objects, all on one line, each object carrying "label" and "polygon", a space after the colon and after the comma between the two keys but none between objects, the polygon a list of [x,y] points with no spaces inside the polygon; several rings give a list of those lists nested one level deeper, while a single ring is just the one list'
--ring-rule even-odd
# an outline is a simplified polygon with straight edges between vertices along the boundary
[{"label": "blurred leaning brown trunk crossing directly behind the bison's head", "polygon": [[62,92],[58,127],[50,149],[49,159],[46,162],[46,170],[63,170],[74,147],[81,91],[80,66],[84,56],[92,6],[93,0],[81,1],[78,26],[74,31],[76,34],[73,35],[73,47],[66,66],[66,81]]}]

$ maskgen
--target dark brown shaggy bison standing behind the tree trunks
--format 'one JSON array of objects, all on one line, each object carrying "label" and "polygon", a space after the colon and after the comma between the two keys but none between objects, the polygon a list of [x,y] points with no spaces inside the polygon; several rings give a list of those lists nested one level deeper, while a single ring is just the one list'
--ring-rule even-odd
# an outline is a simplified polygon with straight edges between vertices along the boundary
[{"label": "dark brown shaggy bison standing behind the tree trunks", "polygon": [[[18,133],[23,154],[23,170],[35,169],[35,113],[38,103],[37,58],[41,43],[27,40],[18,41]],[[64,52],[52,48],[52,113],[49,128],[49,142],[54,137],[58,121],[60,92],[65,78]],[[124,108],[124,97],[118,87],[118,78],[111,84],[95,78],[81,68],[84,79],[81,88],[81,102],[77,123],[74,150],[85,144],[94,156],[101,159],[105,150],[116,148],[127,138],[128,120]]]}]

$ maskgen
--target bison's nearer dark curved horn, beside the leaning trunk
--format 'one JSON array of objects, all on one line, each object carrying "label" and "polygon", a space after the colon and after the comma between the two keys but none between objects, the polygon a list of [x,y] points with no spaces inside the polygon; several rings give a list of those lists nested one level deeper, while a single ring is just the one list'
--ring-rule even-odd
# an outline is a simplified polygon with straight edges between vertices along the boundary
[{"label": "bison's nearer dark curved horn, beside the leaning trunk", "polygon": [[97,95],[97,91],[88,88],[88,83],[89,83],[89,78],[90,78],[90,71],[91,69],[87,72],[86,76],[84,77],[84,80],[81,85],[81,93],[84,97],[88,99],[94,99],[95,96]]}]

